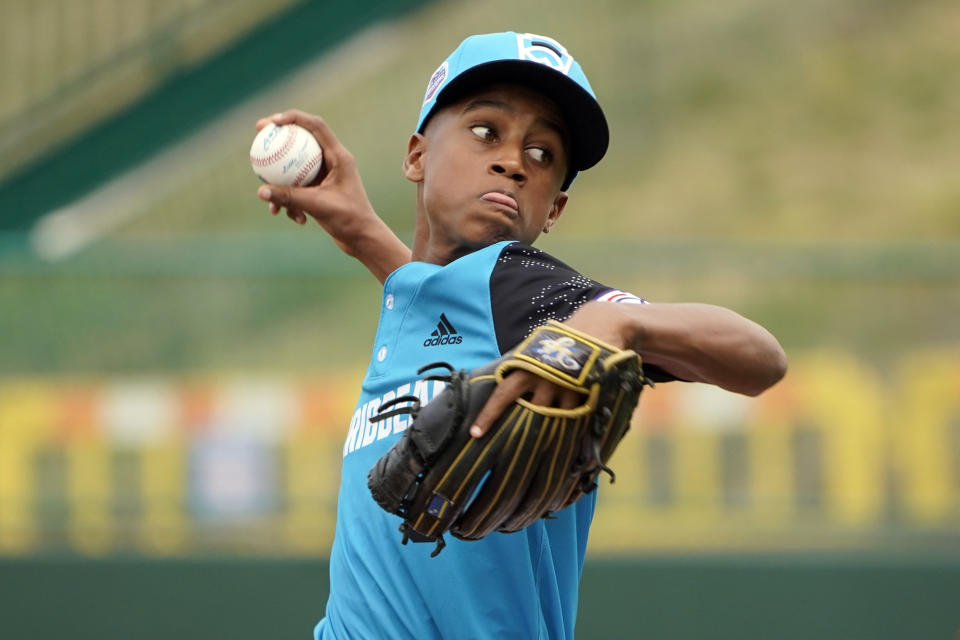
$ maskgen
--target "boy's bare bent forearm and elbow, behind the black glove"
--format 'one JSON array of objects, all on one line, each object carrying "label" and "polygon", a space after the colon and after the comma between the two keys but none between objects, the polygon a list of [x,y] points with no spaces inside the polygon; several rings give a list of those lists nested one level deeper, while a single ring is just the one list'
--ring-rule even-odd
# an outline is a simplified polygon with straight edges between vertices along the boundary
[{"label": "boy's bare bent forearm and elbow, behind the black glove", "polygon": [[[596,305],[603,307],[588,308]],[[581,312],[588,317],[578,319]],[[757,395],[786,373],[786,354],[777,339],[757,323],[723,307],[591,303],[568,322],[578,326],[584,320],[597,325],[594,330],[602,332],[597,337],[633,348],[644,362],[691,382]],[[601,324],[607,328],[600,328]]]}]

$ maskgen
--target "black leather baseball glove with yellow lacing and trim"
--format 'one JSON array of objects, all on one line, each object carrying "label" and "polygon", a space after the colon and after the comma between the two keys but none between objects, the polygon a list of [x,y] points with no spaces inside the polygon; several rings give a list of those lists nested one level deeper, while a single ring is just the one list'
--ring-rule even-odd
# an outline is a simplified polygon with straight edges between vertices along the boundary
[{"label": "black leather baseball glove with yellow lacing and trim", "polygon": [[[397,398],[372,418],[414,417],[368,477],[374,500],[403,519],[404,543],[435,540],[436,555],[447,531],[463,540],[518,531],[592,491],[600,471],[613,481],[607,463],[647,383],[636,353],[551,322],[470,373],[444,363],[420,373],[441,366],[447,374],[427,379],[448,385],[429,404]],[[558,408],[518,398],[483,437],[471,437],[490,394],[515,370],[575,391],[580,404]]]}]

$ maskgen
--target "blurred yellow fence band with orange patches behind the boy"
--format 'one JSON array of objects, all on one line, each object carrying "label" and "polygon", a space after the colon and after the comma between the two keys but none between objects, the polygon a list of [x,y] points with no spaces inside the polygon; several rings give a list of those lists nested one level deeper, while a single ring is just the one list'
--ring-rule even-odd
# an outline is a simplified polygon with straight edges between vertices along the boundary
[{"label": "blurred yellow fence band with orange patches behind the boy", "polygon": [[[958,354],[795,354],[758,399],[664,384],[595,550],[955,545]],[[361,374],[0,385],[0,551],[325,553]]]}]

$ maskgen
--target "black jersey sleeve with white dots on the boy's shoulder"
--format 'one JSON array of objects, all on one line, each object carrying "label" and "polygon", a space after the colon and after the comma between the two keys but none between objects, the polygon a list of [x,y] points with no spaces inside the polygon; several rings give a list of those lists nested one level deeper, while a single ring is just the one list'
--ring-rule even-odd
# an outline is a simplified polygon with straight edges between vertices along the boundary
[{"label": "black jersey sleeve with white dots on the boy's shoulder", "polygon": [[[505,353],[548,320],[564,321],[590,301],[646,304],[646,300],[581,275],[531,246],[504,247],[490,274],[490,306],[500,353]],[[644,365],[655,382],[678,380],[656,365]]]}]

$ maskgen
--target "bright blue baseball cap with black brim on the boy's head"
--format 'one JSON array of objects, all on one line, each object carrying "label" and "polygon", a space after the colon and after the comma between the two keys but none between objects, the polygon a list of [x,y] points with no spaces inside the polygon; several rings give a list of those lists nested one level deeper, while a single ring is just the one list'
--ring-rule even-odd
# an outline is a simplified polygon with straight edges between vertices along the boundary
[{"label": "bright blue baseball cap with black brim on the boy's head", "polygon": [[542,93],[563,113],[571,134],[564,190],[579,171],[600,162],[610,132],[587,76],[562,44],[533,33],[486,33],[461,42],[430,76],[417,131],[423,133],[437,109],[501,82],[515,82]]}]

